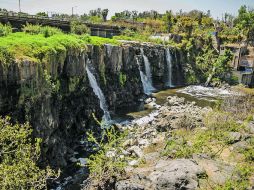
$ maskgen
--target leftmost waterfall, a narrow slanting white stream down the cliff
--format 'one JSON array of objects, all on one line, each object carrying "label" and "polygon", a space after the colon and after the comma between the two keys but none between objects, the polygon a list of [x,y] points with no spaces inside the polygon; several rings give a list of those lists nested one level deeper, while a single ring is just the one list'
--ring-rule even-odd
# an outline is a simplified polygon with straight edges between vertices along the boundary
[{"label": "leftmost waterfall, a narrow slanting white stream down the cliff", "polygon": [[90,83],[91,87],[93,88],[93,92],[95,93],[95,95],[100,100],[100,108],[104,112],[104,115],[103,115],[102,119],[105,122],[109,122],[111,120],[111,117],[110,117],[110,114],[109,114],[109,111],[108,111],[108,106],[107,106],[104,94],[103,94],[102,90],[100,89],[100,87],[99,87],[99,85],[96,81],[95,76],[89,70],[88,66],[86,66],[86,72],[87,72],[87,75],[88,75],[89,83]]}]

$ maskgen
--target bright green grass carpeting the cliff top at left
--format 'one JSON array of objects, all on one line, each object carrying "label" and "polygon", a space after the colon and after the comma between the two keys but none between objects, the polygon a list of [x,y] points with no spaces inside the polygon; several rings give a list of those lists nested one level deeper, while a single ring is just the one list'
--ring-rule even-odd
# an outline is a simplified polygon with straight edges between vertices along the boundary
[{"label": "bright green grass carpeting the cliff top at left", "polygon": [[6,55],[15,59],[38,60],[45,55],[55,55],[67,50],[85,49],[86,44],[103,45],[120,43],[114,39],[101,38],[89,35],[55,34],[44,37],[42,34],[31,35],[24,32],[13,33],[0,37],[0,61],[7,63]]}]

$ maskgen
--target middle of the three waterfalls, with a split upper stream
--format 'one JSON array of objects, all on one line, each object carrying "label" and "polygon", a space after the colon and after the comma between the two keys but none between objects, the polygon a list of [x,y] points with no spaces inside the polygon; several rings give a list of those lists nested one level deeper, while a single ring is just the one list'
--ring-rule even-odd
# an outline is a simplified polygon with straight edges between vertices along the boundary
[{"label": "middle of the three waterfalls, with a split upper stream", "polygon": [[[152,85],[151,66],[147,56],[145,56],[144,54],[143,49],[141,49],[141,54],[143,56],[144,63],[145,63],[145,73],[140,68],[139,68],[139,72],[140,72],[140,77],[143,84],[144,93],[149,95],[155,90],[155,88]],[[138,59],[137,61],[138,61],[138,65],[140,66]]]}]

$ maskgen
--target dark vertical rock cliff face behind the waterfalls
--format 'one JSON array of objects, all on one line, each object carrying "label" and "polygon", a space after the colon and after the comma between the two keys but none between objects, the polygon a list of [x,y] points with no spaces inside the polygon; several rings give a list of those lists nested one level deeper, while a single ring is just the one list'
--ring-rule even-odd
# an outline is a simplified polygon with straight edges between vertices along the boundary
[{"label": "dark vertical rock cliff face behind the waterfalls", "polygon": [[[99,100],[89,85],[85,67],[91,63],[93,74],[104,92],[111,112],[135,106],[144,95],[136,59],[144,49],[153,75],[153,83],[163,87],[165,47],[140,44],[88,46],[86,50],[68,50],[67,54],[41,61],[0,63],[0,114],[14,122],[29,121],[34,137],[43,139],[41,163],[64,167],[68,154],[82,134],[91,128],[92,113],[101,118]],[[177,84],[182,73],[180,53],[171,50]],[[141,69],[144,65],[141,60]],[[96,132],[98,128],[95,129]]]}]

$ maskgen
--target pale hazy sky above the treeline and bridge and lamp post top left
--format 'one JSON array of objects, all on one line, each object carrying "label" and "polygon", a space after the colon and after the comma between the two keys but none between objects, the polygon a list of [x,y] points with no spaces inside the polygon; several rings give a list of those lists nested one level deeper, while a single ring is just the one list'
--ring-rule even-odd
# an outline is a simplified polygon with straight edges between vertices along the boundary
[{"label": "pale hazy sky above the treeline and bridge and lamp post top left", "polygon": [[[190,11],[198,9],[207,12],[211,11],[214,18],[221,18],[227,12],[237,15],[241,5],[254,8],[254,0],[20,0],[22,12],[35,14],[37,12],[56,12],[71,14],[72,7],[74,14],[88,13],[91,9],[108,8],[109,16],[115,12],[124,10],[156,10],[174,12],[182,9]],[[18,0],[0,0],[0,8],[6,8],[18,12]]]}]

